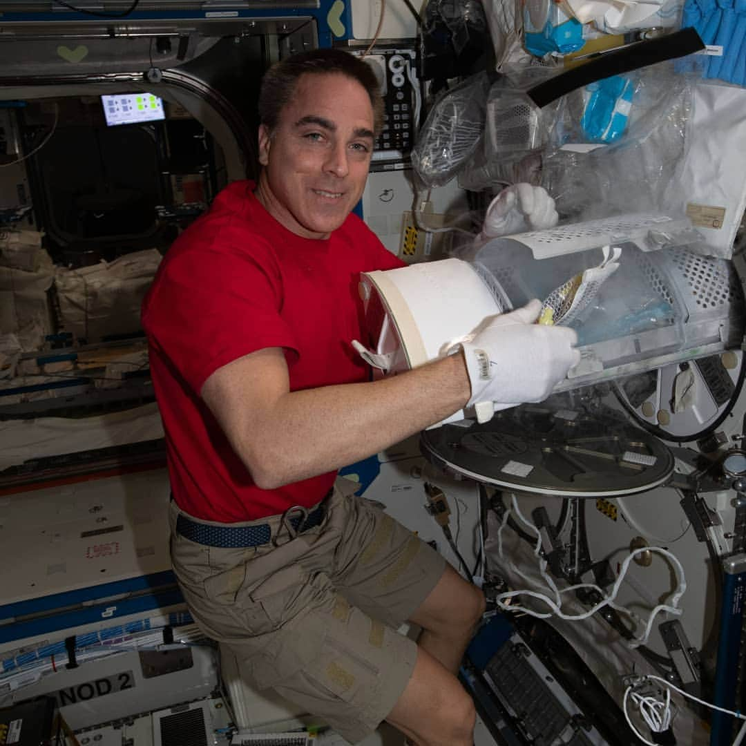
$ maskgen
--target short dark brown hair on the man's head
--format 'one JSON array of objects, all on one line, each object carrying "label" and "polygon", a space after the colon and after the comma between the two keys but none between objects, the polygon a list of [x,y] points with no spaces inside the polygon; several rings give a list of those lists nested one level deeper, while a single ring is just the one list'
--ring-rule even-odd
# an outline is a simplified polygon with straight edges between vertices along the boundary
[{"label": "short dark brown hair on the man's head", "polygon": [[290,101],[301,75],[337,73],[360,83],[373,106],[376,134],[383,125],[383,98],[378,79],[371,66],[360,57],[342,49],[324,48],[301,51],[276,62],[262,78],[259,94],[259,119],[272,132],[277,127],[280,111]]}]

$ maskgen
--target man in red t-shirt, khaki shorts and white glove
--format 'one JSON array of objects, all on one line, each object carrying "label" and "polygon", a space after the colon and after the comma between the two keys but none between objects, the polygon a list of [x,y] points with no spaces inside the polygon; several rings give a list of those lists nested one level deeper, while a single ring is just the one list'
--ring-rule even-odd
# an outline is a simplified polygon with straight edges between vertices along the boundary
[{"label": "man in red t-shirt, khaki shorts and white glove", "polygon": [[463,354],[369,380],[350,345],[366,338],[359,275],[402,264],[351,214],[381,106],[371,69],[344,51],[273,66],[258,184],[218,195],[145,298],[172,560],[195,621],[251,686],[350,742],[386,720],[418,744],[462,746],[474,706],[455,674],[483,596],[336,470],[465,404],[545,398],[577,352],[527,307]]}]

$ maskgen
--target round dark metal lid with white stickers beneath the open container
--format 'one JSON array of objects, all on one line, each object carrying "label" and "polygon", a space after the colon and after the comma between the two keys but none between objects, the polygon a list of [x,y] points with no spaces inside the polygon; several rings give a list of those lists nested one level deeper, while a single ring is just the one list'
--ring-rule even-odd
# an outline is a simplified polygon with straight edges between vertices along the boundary
[{"label": "round dark metal lid with white stickers beneath the open container", "polygon": [[644,492],[674,470],[671,451],[611,411],[526,404],[489,422],[462,421],[421,434],[437,466],[505,489],[574,498]]}]

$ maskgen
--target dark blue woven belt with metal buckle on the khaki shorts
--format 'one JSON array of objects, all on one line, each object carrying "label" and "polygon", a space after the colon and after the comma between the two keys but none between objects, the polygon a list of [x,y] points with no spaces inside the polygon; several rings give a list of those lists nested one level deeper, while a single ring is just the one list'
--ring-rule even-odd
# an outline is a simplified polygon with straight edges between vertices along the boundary
[{"label": "dark blue woven belt with metal buckle on the khaki shorts", "polygon": [[[285,529],[289,538],[295,539],[298,533],[318,526],[323,520],[323,505],[319,505],[310,513],[305,508],[296,505],[283,513],[278,533],[284,533],[283,529]],[[253,526],[213,526],[188,518],[184,513],[179,513],[176,519],[176,531],[190,542],[210,547],[258,547],[272,541],[272,527],[269,523],[257,523]]]}]

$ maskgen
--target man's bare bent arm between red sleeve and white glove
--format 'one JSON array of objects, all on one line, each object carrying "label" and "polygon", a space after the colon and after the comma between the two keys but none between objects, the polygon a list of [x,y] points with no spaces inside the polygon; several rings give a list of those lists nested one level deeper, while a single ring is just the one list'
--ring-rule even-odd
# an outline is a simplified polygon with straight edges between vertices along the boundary
[{"label": "man's bare bent arm between red sleeve and white glove", "polygon": [[460,410],[463,355],[370,383],[289,391],[280,348],[216,370],[201,395],[254,483],[273,489],[354,463]]}]

